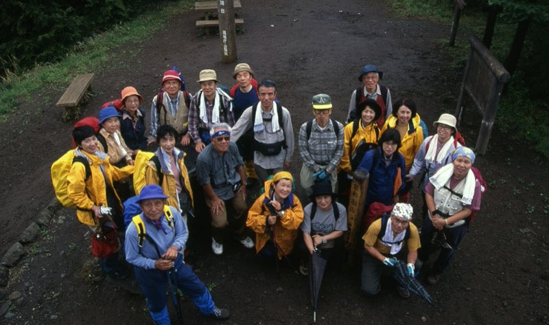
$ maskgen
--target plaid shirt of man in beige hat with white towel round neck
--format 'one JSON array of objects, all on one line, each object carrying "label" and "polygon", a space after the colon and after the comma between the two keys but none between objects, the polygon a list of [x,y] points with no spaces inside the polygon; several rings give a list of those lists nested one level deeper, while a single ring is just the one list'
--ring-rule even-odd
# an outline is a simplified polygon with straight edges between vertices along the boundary
[{"label": "plaid shirt of man in beige hat with white towel round neck", "polygon": [[[198,96],[204,96],[202,94],[202,90],[198,91],[192,98],[191,98],[191,104],[189,107],[189,135],[191,135],[191,138],[193,139],[194,143],[202,141],[200,139],[200,135],[198,134],[198,130],[200,128],[205,128],[208,131],[213,126],[213,123],[211,122],[211,115],[213,113],[213,102],[208,102],[206,100],[206,116],[208,117],[208,123],[205,123],[204,121],[200,120],[200,104],[198,103]],[[235,125],[235,117],[233,115],[233,102],[231,98],[226,97],[220,93],[220,97],[223,100],[223,107],[226,110],[226,115],[224,115],[221,111],[219,113],[219,121],[225,122],[229,124],[230,126]],[[220,107],[221,110],[221,107]]]}]

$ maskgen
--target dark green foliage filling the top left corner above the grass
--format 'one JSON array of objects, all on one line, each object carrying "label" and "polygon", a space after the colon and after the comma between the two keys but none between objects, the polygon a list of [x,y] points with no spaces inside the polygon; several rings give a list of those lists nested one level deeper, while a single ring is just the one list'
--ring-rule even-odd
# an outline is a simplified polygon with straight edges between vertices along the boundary
[{"label": "dark green foliage filling the top left corner above the grass", "polygon": [[146,0],[8,0],[0,11],[0,76],[59,60],[84,38],[158,5]]}]

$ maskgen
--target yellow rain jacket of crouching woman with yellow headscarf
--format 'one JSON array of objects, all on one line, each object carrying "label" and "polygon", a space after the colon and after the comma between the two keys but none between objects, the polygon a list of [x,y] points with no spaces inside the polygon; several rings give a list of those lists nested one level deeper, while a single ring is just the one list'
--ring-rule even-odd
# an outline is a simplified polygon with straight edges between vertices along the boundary
[{"label": "yellow rain jacket of crouching woman with yellow headscarf", "polygon": [[[277,256],[282,258],[283,255],[288,255],[294,250],[294,242],[297,238],[297,229],[303,221],[303,207],[301,202],[293,193],[291,198],[285,199],[285,204],[290,205],[290,208],[284,210],[284,215],[277,218],[277,223],[268,225],[267,217],[269,210],[264,201],[269,197],[271,192],[272,181],[265,182],[265,193],[255,200],[255,203],[248,210],[248,219],[246,226],[255,232],[255,249],[257,253],[263,249],[267,241],[273,236],[275,245],[278,245],[283,252],[277,249]],[[283,204],[283,206],[285,205]]]}]

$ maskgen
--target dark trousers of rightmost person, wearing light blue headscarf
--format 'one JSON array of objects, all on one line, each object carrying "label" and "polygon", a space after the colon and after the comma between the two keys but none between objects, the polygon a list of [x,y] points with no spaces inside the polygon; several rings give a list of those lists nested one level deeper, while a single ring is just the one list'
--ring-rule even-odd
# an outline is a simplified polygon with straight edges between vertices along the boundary
[{"label": "dark trousers of rightmost person, wearing light blue headscarf", "polygon": [[[421,248],[419,249],[419,259],[423,262],[427,262],[429,256],[439,248],[431,243],[436,231],[437,230],[432,225],[431,219],[429,217],[424,218],[423,227],[421,228]],[[454,256],[454,253],[458,249],[459,243],[461,243],[461,240],[465,237],[465,234],[467,234],[467,223],[452,228],[444,227],[443,232],[446,236],[446,243],[452,248],[441,247],[441,254],[439,255],[439,258],[436,258],[431,270],[431,273],[434,275],[443,273],[449,265],[452,256]]]}]

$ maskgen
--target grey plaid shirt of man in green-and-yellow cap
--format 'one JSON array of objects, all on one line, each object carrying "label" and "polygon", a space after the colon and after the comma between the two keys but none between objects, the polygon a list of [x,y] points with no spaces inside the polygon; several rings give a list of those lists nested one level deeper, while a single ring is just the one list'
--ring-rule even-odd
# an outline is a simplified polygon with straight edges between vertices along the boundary
[{"label": "grey plaid shirt of man in green-and-yellow cap", "polygon": [[318,165],[327,165],[329,172],[336,170],[343,155],[343,124],[337,122],[339,133],[336,135],[334,124],[329,120],[326,128],[320,130],[316,120],[313,120],[311,137],[307,141],[307,122],[299,128],[299,155],[303,164],[310,170],[320,168]]}]

